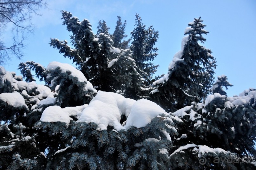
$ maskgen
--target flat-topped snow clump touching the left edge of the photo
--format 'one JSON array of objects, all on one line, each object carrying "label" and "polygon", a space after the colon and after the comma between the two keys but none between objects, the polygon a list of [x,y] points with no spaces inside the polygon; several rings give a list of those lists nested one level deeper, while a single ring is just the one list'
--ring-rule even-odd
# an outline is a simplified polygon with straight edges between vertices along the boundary
[{"label": "flat-topped snow clump touching the left edge of the photo", "polygon": [[6,102],[8,105],[12,105],[15,108],[25,107],[28,108],[25,104],[25,100],[21,94],[18,92],[14,93],[1,93],[0,100]]}]

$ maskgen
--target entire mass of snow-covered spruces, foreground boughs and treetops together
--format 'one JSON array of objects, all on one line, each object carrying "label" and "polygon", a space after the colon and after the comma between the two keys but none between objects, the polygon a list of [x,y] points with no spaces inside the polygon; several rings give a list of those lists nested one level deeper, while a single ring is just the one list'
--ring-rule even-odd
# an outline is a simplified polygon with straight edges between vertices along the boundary
[{"label": "entire mass of snow-covered spruces, foreground boughs and treetops together", "polygon": [[[51,45],[76,69],[26,62],[25,82],[0,67],[0,169],[255,169],[256,90],[228,97],[226,76],[212,82],[215,61],[198,43],[208,33],[200,18],[153,83],[155,66],[144,64],[156,56],[158,32],[138,15],[131,49],[105,21],[94,35],[87,19],[62,17],[75,49],[57,39]],[[116,30],[124,27],[119,18]]]}]

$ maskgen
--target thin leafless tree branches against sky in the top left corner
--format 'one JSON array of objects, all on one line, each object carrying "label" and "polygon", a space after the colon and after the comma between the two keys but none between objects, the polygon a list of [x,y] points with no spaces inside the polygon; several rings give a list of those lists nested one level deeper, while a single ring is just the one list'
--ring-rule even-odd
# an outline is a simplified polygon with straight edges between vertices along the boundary
[{"label": "thin leafless tree branches against sky in the top left corner", "polygon": [[[45,0],[0,1],[0,64],[10,60],[11,56],[22,58],[24,35],[34,29],[31,23],[32,15],[40,15],[37,11],[46,5]],[[11,25],[12,45],[3,41],[7,25]]]}]

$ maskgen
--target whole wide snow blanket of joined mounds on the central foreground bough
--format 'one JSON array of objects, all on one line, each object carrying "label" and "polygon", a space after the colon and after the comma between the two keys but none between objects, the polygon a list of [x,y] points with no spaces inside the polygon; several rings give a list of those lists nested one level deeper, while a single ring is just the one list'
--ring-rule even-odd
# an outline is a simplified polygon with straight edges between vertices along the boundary
[{"label": "whole wide snow blanket of joined mounds on the central foreground bough", "polygon": [[[42,105],[42,103],[48,103],[48,99],[42,100],[40,104]],[[78,121],[97,123],[97,130],[105,130],[108,126],[113,126],[115,130],[120,131],[131,126],[144,127],[159,114],[169,116],[163,108],[152,101],[146,99],[135,101],[117,93],[99,91],[89,105],[66,108],[50,106],[43,111],[40,120],[45,122],[61,121],[68,126],[72,120],[70,116],[75,116]],[[121,115],[127,117],[125,126],[120,123]],[[168,117],[166,119],[172,121]],[[167,139],[170,140],[168,135]]]}]

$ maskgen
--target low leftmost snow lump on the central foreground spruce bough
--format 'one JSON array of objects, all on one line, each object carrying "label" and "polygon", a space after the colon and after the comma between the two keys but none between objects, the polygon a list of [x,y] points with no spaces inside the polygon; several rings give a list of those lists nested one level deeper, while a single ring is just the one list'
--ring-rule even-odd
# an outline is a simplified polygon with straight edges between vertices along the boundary
[{"label": "low leftmost snow lump on the central foreground spruce bough", "polygon": [[43,122],[65,122],[69,126],[70,121],[73,120],[69,114],[64,112],[59,106],[49,106],[44,109],[40,121]]}]

